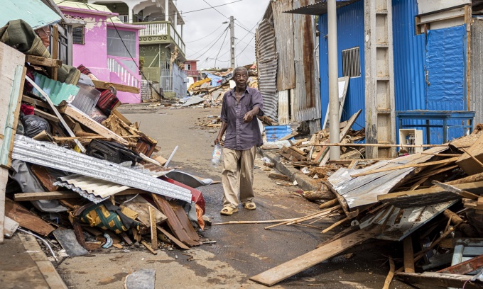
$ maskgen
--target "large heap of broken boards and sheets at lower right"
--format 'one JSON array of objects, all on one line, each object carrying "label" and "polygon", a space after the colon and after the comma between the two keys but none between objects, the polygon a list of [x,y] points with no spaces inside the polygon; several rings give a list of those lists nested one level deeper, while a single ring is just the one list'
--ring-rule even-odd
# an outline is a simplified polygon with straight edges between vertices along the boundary
[{"label": "large heap of broken boards and sheets at lower right", "polygon": [[250,279],[273,285],[369,239],[381,239],[403,248],[389,256],[384,288],[394,276],[419,288],[483,288],[482,128],[477,125],[471,135],[423,152],[362,168],[351,162],[333,172],[320,188],[328,199],[320,211],[266,229],[314,226],[342,215],[321,233],[337,227],[340,232],[318,249]]}]

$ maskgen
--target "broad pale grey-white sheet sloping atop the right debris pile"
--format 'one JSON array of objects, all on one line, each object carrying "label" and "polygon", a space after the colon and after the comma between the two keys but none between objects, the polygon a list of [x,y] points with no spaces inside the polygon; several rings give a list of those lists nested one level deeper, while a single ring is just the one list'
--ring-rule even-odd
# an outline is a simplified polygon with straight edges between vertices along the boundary
[{"label": "broad pale grey-white sheet sloping atop the right debris pile", "polygon": [[[439,153],[446,147],[433,147],[425,152]],[[396,171],[382,171],[367,176],[352,177],[354,174],[373,171],[391,166],[401,166],[401,164],[419,164],[427,162],[433,156],[429,154],[411,154],[406,157],[399,157],[390,161],[381,161],[367,166],[364,169],[339,169],[327,181],[332,184],[335,193],[342,196],[347,201],[349,208],[356,208],[361,205],[371,205],[377,203],[377,196],[389,193],[401,180],[411,174],[416,168],[408,167]]]}]

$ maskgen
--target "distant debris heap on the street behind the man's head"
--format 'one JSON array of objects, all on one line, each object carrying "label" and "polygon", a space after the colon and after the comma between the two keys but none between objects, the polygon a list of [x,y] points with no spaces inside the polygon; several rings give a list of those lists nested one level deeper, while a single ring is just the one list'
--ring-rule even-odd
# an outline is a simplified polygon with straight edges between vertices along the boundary
[{"label": "distant debris heap on the street behind the man's head", "polygon": [[[249,72],[247,84],[251,88],[258,88],[258,77],[256,64],[246,65]],[[191,84],[188,88],[187,98],[183,98],[183,106],[193,106],[195,104],[208,106],[221,106],[224,94],[234,88],[233,69],[222,69],[217,72],[206,73],[205,79]]]}]

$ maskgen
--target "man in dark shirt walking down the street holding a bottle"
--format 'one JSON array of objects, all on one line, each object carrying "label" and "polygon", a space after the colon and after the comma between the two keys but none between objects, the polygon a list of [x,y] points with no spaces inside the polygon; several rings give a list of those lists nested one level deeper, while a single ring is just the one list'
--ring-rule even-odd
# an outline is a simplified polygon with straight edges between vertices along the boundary
[{"label": "man in dark shirt walking down the street holding a bottle", "polygon": [[239,200],[247,210],[255,210],[253,201],[254,161],[256,147],[263,145],[256,115],[264,115],[264,103],[258,89],[246,85],[248,71],[244,67],[234,69],[235,88],[223,96],[222,128],[215,145],[221,142],[224,132],[222,173],[222,215],[238,212]]}]

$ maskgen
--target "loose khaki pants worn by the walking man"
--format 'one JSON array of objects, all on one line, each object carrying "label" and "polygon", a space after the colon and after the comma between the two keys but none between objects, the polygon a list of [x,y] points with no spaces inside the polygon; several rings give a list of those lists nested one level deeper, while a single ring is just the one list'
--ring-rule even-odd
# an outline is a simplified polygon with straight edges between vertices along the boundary
[{"label": "loose khaki pants worn by the walking man", "polygon": [[239,200],[246,203],[254,198],[255,154],[255,146],[245,150],[223,149],[223,207],[238,208]]}]

